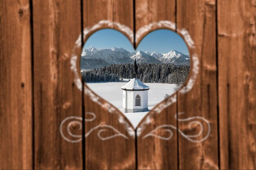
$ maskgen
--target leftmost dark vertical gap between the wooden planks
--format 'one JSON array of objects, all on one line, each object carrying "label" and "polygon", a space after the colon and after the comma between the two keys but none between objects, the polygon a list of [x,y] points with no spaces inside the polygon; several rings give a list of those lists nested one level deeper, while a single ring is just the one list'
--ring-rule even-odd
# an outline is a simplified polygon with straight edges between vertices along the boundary
[{"label": "leftmost dark vertical gap between the wooden planks", "polygon": [[33,27],[33,0],[29,0],[29,10],[30,10],[30,43],[31,43],[31,169],[35,169],[35,107],[34,107],[34,27]]}]

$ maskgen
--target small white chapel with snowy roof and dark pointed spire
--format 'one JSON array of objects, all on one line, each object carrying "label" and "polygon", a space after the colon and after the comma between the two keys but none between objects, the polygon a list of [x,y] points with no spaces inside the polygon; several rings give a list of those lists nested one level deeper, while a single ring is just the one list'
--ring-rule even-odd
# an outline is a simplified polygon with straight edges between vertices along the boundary
[{"label": "small white chapel with snowy roof and dark pointed spire", "polygon": [[132,77],[123,90],[123,108],[124,113],[145,112],[148,111],[148,90],[149,87],[143,84],[138,77],[138,68],[136,59],[134,61]]}]

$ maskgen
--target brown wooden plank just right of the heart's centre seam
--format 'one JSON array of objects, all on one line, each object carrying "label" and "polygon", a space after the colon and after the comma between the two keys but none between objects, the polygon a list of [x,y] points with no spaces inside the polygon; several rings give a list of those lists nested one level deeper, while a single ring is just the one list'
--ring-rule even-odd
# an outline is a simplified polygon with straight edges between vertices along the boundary
[{"label": "brown wooden plank just right of the heart's centre seam", "polygon": [[[143,26],[167,20],[175,23],[175,0],[136,0],[135,1],[135,23],[136,32]],[[169,29],[161,26],[163,29]],[[136,46],[144,38],[144,36],[159,26],[152,26],[152,28],[144,32],[141,37],[137,39]],[[175,31],[175,30],[173,30]],[[159,42],[155,42],[159,43]],[[168,92],[166,92],[168,93]],[[176,93],[173,94],[176,99]],[[173,136],[169,140],[162,140],[157,137],[146,137],[151,131],[158,126],[172,125],[177,127],[175,115],[177,113],[176,103],[163,109],[161,113],[151,111],[148,113],[149,120],[145,117],[138,125],[137,130],[137,166],[138,169],[177,169],[177,131],[172,128],[167,128],[173,132]],[[149,121],[149,124],[144,124]],[[139,129],[144,130],[140,133]],[[159,128],[155,131],[156,135],[168,137],[169,132],[164,128]]]}]

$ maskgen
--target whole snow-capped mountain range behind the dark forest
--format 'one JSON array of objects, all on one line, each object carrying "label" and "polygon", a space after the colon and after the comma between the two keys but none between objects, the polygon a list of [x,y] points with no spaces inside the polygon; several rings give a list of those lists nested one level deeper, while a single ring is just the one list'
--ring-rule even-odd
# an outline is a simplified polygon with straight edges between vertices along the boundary
[{"label": "whole snow-capped mountain range behind the dark forest", "polygon": [[189,65],[190,57],[179,51],[171,50],[160,54],[148,51],[129,52],[123,48],[101,49],[93,46],[84,49],[81,53],[81,69],[101,68],[111,64],[132,63],[136,58],[137,63],[166,63],[175,65]]}]

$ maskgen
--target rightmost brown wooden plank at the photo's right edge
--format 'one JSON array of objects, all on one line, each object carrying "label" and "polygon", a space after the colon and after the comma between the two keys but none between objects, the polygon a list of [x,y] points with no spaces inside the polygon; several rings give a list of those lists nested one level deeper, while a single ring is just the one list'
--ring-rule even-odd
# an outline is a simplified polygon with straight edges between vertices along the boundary
[{"label": "rightmost brown wooden plank at the photo's right edge", "polygon": [[221,169],[256,169],[255,7],[218,0]]}]

